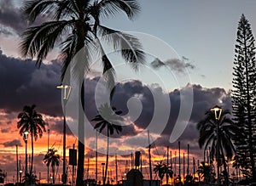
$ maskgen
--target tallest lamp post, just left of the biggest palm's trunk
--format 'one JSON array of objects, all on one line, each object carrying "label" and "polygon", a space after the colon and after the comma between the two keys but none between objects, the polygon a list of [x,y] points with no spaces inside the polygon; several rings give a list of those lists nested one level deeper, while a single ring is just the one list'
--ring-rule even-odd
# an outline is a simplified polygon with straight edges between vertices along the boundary
[{"label": "tallest lamp post, just left of the biggest palm's trunk", "polygon": [[67,183],[67,173],[66,173],[66,104],[67,99],[71,93],[71,86],[69,85],[60,85],[57,86],[58,89],[62,90],[63,97],[63,170],[62,170],[62,183]]}]

